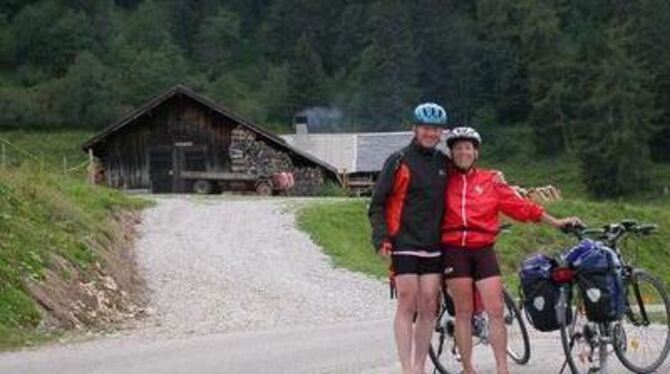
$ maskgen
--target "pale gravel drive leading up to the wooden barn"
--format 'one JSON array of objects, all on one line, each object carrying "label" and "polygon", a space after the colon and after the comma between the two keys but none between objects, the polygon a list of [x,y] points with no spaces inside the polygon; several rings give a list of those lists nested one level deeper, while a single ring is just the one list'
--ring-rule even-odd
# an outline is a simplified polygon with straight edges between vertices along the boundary
[{"label": "pale gravel drive leading up to the wooden barn", "polygon": [[160,199],[138,242],[158,330],[211,334],[389,318],[387,286],[334,269],[295,228],[296,203]]}]

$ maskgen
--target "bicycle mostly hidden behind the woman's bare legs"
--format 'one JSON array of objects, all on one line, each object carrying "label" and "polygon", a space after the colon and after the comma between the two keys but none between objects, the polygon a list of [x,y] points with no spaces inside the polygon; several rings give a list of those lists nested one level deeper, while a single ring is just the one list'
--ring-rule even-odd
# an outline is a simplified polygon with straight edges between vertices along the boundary
[{"label": "bicycle mostly hidden behind the woman's bare legs", "polygon": [[[489,344],[489,324],[484,312],[483,303],[476,288],[473,292],[474,313],[472,317],[473,347],[479,344]],[[508,329],[507,353],[519,365],[530,360],[530,341],[528,331],[519,308],[507,290],[504,290],[505,313],[504,321]],[[516,322],[516,323],[515,323]],[[435,372],[442,374],[460,373],[462,365],[454,338],[455,309],[454,302],[449,295],[445,282],[442,282],[441,303],[435,325],[435,334],[428,351]],[[518,331],[516,331],[518,330]],[[520,334],[521,341],[515,339]]]}]

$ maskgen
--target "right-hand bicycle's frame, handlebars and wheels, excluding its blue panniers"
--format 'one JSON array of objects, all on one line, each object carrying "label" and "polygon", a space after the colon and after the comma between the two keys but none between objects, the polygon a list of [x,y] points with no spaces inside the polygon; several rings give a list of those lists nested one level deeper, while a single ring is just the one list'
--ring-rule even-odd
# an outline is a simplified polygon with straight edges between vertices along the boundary
[{"label": "right-hand bicycle's frame, handlebars and wheels, excluding its blue panniers", "polygon": [[[596,323],[586,318],[584,301],[575,293],[574,306],[570,306],[569,295],[576,282],[579,270],[562,263],[554,269],[552,278],[561,285],[557,305],[561,324],[561,343],[566,361],[561,373],[569,368],[572,373],[607,373],[607,360],[611,345],[619,361],[635,373],[650,373],[665,361],[670,350],[670,298],[664,283],[647,271],[636,268],[621,252],[621,241],[629,235],[652,234],[655,225],[638,225],[632,220],[608,224],[602,229],[569,227],[564,232],[580,241],[592,238],[601,241],[613,250],[621,268],[619,276],[624,286],[624,313],[614,322]],[[567,308],[573,308],[572,320],[567,321]],[[635,334],[640,330],[638,334]],[[649,336],[646,336],[646,334]],[[635,359],[635,353],[646,352],[640,348],[649,338],[662,339],[656,344],[659,353],[649,363]],[[652,348],[654,348],[652,346]]]}]

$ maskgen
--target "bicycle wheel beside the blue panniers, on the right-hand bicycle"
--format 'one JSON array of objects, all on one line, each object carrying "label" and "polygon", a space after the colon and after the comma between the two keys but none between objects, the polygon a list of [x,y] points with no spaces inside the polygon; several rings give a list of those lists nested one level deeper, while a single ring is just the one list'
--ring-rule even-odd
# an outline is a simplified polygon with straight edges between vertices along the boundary
[{"label": "bicycle wheel beside the blue panniers, on the right-hand bicycle", "polygon": [[[574,306],[570,306],[567,296],[569,286],[563,286],[557,313],[561,323],[561,344],[565,353],[565,365],[574,374],[589,373],[599,367],[599,334],[602,329],[589,322],[579,294],[575,295]],[[562,306],[561,306],[562,305]],[[572,308],[572,320],[568,321],[565,308]],[[561,370],[562,372],[562,370]]]}]

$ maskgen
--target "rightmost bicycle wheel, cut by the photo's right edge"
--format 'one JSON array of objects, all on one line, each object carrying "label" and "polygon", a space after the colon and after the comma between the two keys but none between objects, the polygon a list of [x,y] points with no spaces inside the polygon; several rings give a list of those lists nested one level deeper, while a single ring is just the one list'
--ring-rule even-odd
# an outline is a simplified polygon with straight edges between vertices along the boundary
[{"label": "rightmost bicycle wheel, cut by the photo's right edge", "polygon": [[668,291],[644,270],[635,270],[625,287],[626,313],[614,329],[614,352],[628,370],[649,373],[670,350]]}]

